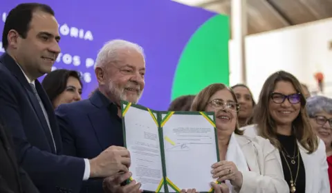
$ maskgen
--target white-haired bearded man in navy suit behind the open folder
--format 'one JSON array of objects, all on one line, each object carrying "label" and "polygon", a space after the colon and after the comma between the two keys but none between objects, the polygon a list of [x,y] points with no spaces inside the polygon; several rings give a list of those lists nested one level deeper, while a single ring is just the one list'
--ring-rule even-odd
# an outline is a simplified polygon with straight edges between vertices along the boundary
[{"label": "white-haired bearded man in navy suit behind the open folder", "polygon": [[[60,105],[55,110],[65,154],[93,158],[109,145],[124,145],[120,100],[137,103],[143,92],[145,59],[142,48],[129,41],[109,41],[98,54],[95,75],[99,87],[90,99]],[[120,176],[128,179],[130,174]],[[100,193],[101,185],[102,181],[86,183],[82,192]],[[140,192],[140,183],[110,187],[114,193]]]}]

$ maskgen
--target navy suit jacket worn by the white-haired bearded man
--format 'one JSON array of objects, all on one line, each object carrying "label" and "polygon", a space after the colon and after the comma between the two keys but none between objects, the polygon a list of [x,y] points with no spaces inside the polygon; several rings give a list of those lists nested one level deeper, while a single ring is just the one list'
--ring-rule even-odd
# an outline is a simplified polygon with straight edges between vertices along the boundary
[{"label": "navy suit jacket worn by the white-haired bearded man", "polygon": [[[111,145],[123,146],[118,109],[100,91],[90,99],[63,104],[55,110],[64,144],[64,154],[84,158],[98,156]],[[82,192],[102,192],[102,181],[84,183]]]}]

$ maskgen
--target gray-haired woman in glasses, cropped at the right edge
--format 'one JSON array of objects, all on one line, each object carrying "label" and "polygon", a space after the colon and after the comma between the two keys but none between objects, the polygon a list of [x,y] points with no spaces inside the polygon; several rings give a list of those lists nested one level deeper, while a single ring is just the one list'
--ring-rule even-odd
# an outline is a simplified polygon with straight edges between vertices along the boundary
[{"label": "gray-haired woman in glasses, cropped at the right edge", "polygon": [[332,184],[332,99],[313,96],[306,101],[306,110],[313,130],[325,143],[327,164],[329,165],[330,187]]}]

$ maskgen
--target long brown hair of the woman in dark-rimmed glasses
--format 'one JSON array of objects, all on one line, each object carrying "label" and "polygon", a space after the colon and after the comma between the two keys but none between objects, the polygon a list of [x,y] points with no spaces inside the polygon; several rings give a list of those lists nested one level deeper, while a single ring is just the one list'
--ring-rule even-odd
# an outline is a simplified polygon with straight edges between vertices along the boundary
[{"label": "long brown hair of the woman in dark-rimmed glasses", "polygon": [[266,79],[261,93],[259,94],[259,101],[254,110],[254,123],[258,126],[258,134],[269,139],[270,143],[281,150],[281,145],[277,140],[277,125],[269,112],[271,94],[279,81],[291,83],[296,92],[301,94],[301,109],[299,115],[293,121],[293,128],[296,129],[292,132],[299,143],[311,154],[317,150],[319,139],[313,132],[309,122],[309,117],[306,112],[306,99],[303,95],[302,86],[291,73],[279,71],[271,74],[270,77]]}]

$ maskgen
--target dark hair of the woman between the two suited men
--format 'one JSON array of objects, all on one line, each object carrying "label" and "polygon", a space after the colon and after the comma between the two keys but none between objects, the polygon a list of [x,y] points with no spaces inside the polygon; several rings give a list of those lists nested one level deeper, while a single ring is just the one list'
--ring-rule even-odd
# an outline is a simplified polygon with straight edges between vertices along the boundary
[{"label": "dark hair of the woman between the two suited men", "polygon": [[75,79],[80,81],[80,85],[83,88],[81,75],[75,70],[53,70],[52,72],[48,73],[44,78],[42,86],[52,103],[54,99],[57,98],[57,96],[59,96],[59,94],[64,92],[64,90],[66,89],[69,77],[74,77]]}]

